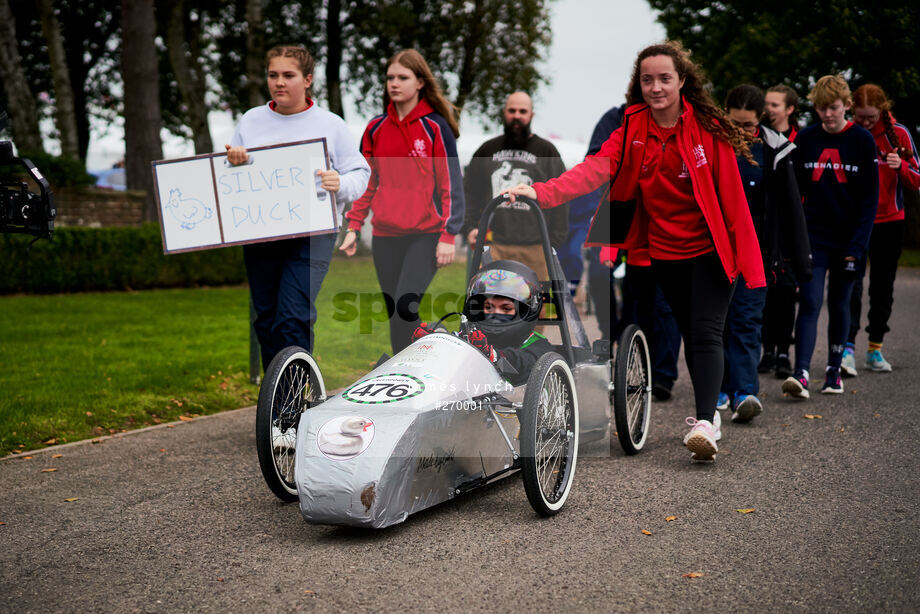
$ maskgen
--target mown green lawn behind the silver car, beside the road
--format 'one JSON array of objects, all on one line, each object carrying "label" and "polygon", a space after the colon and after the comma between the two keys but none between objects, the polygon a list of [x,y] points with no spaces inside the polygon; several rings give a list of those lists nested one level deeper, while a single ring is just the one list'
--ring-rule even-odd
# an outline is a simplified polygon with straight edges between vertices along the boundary
[{"label": "mown green lawn behind the silver car, beside the road", "polygon": [[[453,311],[465,263],[438,272],[420,309]],[[390,349],[369,259],[335,258],[314,354],[331,389]],[[0,455],[256,402],[246,287],[0,297]],[[436,313],[432,313],[434,310]]]}]

